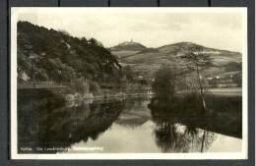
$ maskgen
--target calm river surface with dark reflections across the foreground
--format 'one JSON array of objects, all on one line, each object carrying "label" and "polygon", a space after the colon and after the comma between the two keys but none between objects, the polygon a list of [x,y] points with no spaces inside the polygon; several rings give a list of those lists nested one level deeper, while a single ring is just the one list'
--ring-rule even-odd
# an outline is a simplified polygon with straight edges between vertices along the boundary
[{"label": "calm river surface with dark reflections across the foreground", "polygon": [[[51,99],[49,99],[51,100]],[[154,100],[154,99],[153,99]],[[67,102],[19,102],[18,152],[207,152],[239,151],[241,144],[239,108],[228,108],[235,98],[225,98],[226,105],[212,108],[218,116],[198,116],[186,110],[193,103],[175,101],[170,111],[153,105],[148,98],[122,98]],[[224,100],[224,98],[222,98]],[[186,99],[187,102],[187,99]],[[194,102],[194,101],[193,101]],[[47,104],[48,103],[48,104]],[[148,105],[150,104],[150,109]],[[210,105],[210,104],[209,104]],[[169,107],[170,108],[170,107]],[[196,108],[196,107],[194,107]],[[241,109],[241,108],[240,108]],[[229,116],[229,114],[232,114]],[[225,118],[225,121],[223,118]],[[229,116],[229,117],[228,117]],[[228,118],[226,118],[228,117]],[[219,119],[216,119],[219,118]],[[223,126],[224,124],[224,126]],[[222,148],[234,143],[237,148]],[[238,144],[238,145],[237,145]],[[32,151],[21,147],[30,146]],[[38,150],[36,147],[40,147]],[[83,148],[82,148],[83,147]],[[88,150],[88,147],[103,147]],[[233,146],[232,146],[233,147]],[[59,148],[59,149],[57,149]],[[66,148],[66,149],[65,149]],[[67,151],[67,149],[71,149]]]}]

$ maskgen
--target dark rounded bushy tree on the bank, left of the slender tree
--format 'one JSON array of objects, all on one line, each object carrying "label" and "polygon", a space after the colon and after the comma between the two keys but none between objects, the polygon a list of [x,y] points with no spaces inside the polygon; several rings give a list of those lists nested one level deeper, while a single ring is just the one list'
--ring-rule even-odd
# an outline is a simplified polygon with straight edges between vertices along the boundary
[{"label": "dark rounded bushy tree on the bank, left of the slender tree", "polygon": [[173,97],[175,94],[176,69],[169,67],[161,67],[156,72],[155,82],[152,84],[153,91],[162,99]]}]

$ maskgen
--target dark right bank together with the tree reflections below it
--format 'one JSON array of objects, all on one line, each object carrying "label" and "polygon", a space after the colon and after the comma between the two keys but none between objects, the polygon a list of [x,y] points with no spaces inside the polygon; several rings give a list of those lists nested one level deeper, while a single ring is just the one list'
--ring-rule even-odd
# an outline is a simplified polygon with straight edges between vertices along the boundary
[{"label": "dark right bank together with the tree reflections below it", "polygon": [[149,104],[157,124],[156,141],[163,152],[204,152],[216,139],[214,133],[241,138],[241,97],[206,96],[206,113],[199,101],[198,96],[190,95],[168,103],[154,98]]}]

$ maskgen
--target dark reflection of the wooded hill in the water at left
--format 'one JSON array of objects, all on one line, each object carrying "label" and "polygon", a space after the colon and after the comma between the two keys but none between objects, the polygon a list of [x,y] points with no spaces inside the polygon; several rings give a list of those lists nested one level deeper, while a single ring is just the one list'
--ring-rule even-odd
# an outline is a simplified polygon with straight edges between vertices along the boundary
[{"label": "dark reflection of the wooded hill in the water at left", "polygon": [[[18,146],[69,147],[80,140],[96,139],[117,119],[122,107],[123,102],[112,102],[57,109],[48,109],[45,105],[20,109]],[[56,150],[33,152],[55,153]]]}]

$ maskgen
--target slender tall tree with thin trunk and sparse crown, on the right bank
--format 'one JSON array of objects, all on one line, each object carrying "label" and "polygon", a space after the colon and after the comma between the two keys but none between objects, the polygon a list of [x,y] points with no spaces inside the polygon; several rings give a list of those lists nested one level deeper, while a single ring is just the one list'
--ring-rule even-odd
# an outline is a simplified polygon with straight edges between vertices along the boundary
[{"label": "slender tall tree with thin trunk and sparse crown, on the right bank", "polygon": [[210,69],[213,65],[213,59],[210,54],[204,54],[202,46],[193,46],[189,48],[189,52],[185,54],[182,59],[186,62],[186,70],[188,72],[196,72],[198,83],[200,87],[200,94],[204,109],[206,110],[206,103],[203,93],[202,77],[201,73],[207,69]]}]

